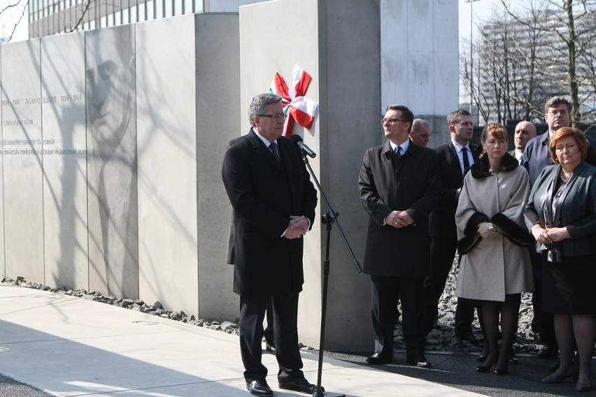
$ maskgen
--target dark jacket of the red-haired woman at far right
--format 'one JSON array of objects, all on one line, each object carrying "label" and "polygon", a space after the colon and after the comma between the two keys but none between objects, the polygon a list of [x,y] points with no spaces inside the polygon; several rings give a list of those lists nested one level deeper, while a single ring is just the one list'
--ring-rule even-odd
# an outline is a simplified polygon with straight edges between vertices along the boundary
[{"label": "dark jacket of the red-haired woman at far right", "polygon": [[[541,197],[560,170],[559,165],[546,166],[538,176],[524,212],[530,225],[540,223]],[[567,226],[571,236],[562,241],[563,255],[569,257],[596,252],[596,167],[583,161],[574,174],[577,179],[561,204],[561,225]]]}]

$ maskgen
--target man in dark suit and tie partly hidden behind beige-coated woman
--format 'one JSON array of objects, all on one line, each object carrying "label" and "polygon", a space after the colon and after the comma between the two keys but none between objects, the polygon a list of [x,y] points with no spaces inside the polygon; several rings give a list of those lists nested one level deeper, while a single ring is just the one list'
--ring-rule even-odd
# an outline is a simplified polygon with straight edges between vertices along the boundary
[{"label": "man in dark suit and tie partly hidden behind beige-coated woman", "polygon": [[[447,116],[451,140],[435,149],[441,170],[441,196],[430,213],[430,275],[424,282],[425,332],[429,333],[437,319],[437,307],[453,265],[457,247],[455,210],[464,175],[478,159],[478,147],[470,144],[474,122],[467,110],[455,110]],[[457,338],[478,343],[471,333],[474,305],[457,299],[455,335]]]}]

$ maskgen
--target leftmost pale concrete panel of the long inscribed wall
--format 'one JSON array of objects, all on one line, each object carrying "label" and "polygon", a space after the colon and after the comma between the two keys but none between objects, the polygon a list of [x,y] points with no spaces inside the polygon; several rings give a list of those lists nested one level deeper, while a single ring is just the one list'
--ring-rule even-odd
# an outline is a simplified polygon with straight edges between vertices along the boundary
[{"label": "leftmost pale concrete panel of the long inscribed wall", "polygon": [[6,274],[43,282],[40,40],[2,45]]}]

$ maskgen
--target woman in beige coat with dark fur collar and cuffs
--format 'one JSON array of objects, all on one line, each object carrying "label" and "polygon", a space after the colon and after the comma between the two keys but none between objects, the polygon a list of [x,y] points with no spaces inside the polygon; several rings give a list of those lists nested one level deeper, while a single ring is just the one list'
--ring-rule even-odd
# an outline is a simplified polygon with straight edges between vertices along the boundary
[{"label": "woman in beige coat with dark fur collar and cuffs", "polygon": [[530,184],[525,169],[507,153],[502,125],[488,124],[481,140],[483,153],[464,178],[455,212],[457,251],[462,256],[457,296],[482,301],[488,355],[476,370],[485,373],[496,364],[495,373],[505,375],[521,293],[534,289],[527,250],[532,238],[523,219]]}]

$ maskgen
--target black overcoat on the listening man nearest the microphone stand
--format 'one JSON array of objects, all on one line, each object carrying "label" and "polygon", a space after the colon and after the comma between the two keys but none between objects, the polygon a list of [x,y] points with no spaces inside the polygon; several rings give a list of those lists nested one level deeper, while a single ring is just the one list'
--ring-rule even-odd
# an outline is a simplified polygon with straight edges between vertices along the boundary
[{"label": "black overcoat on the listening man nearest the microphone stand", "polygon": [[[437,155],[410,142],[407,152],[396,160],[387,141],[364,154],[358,186],[370,215],[364,273],[427,275],[428,215],[441,192]],[[393,210],[406,210],[414,223],[400,229],[383,225],[383,219]]]}]

